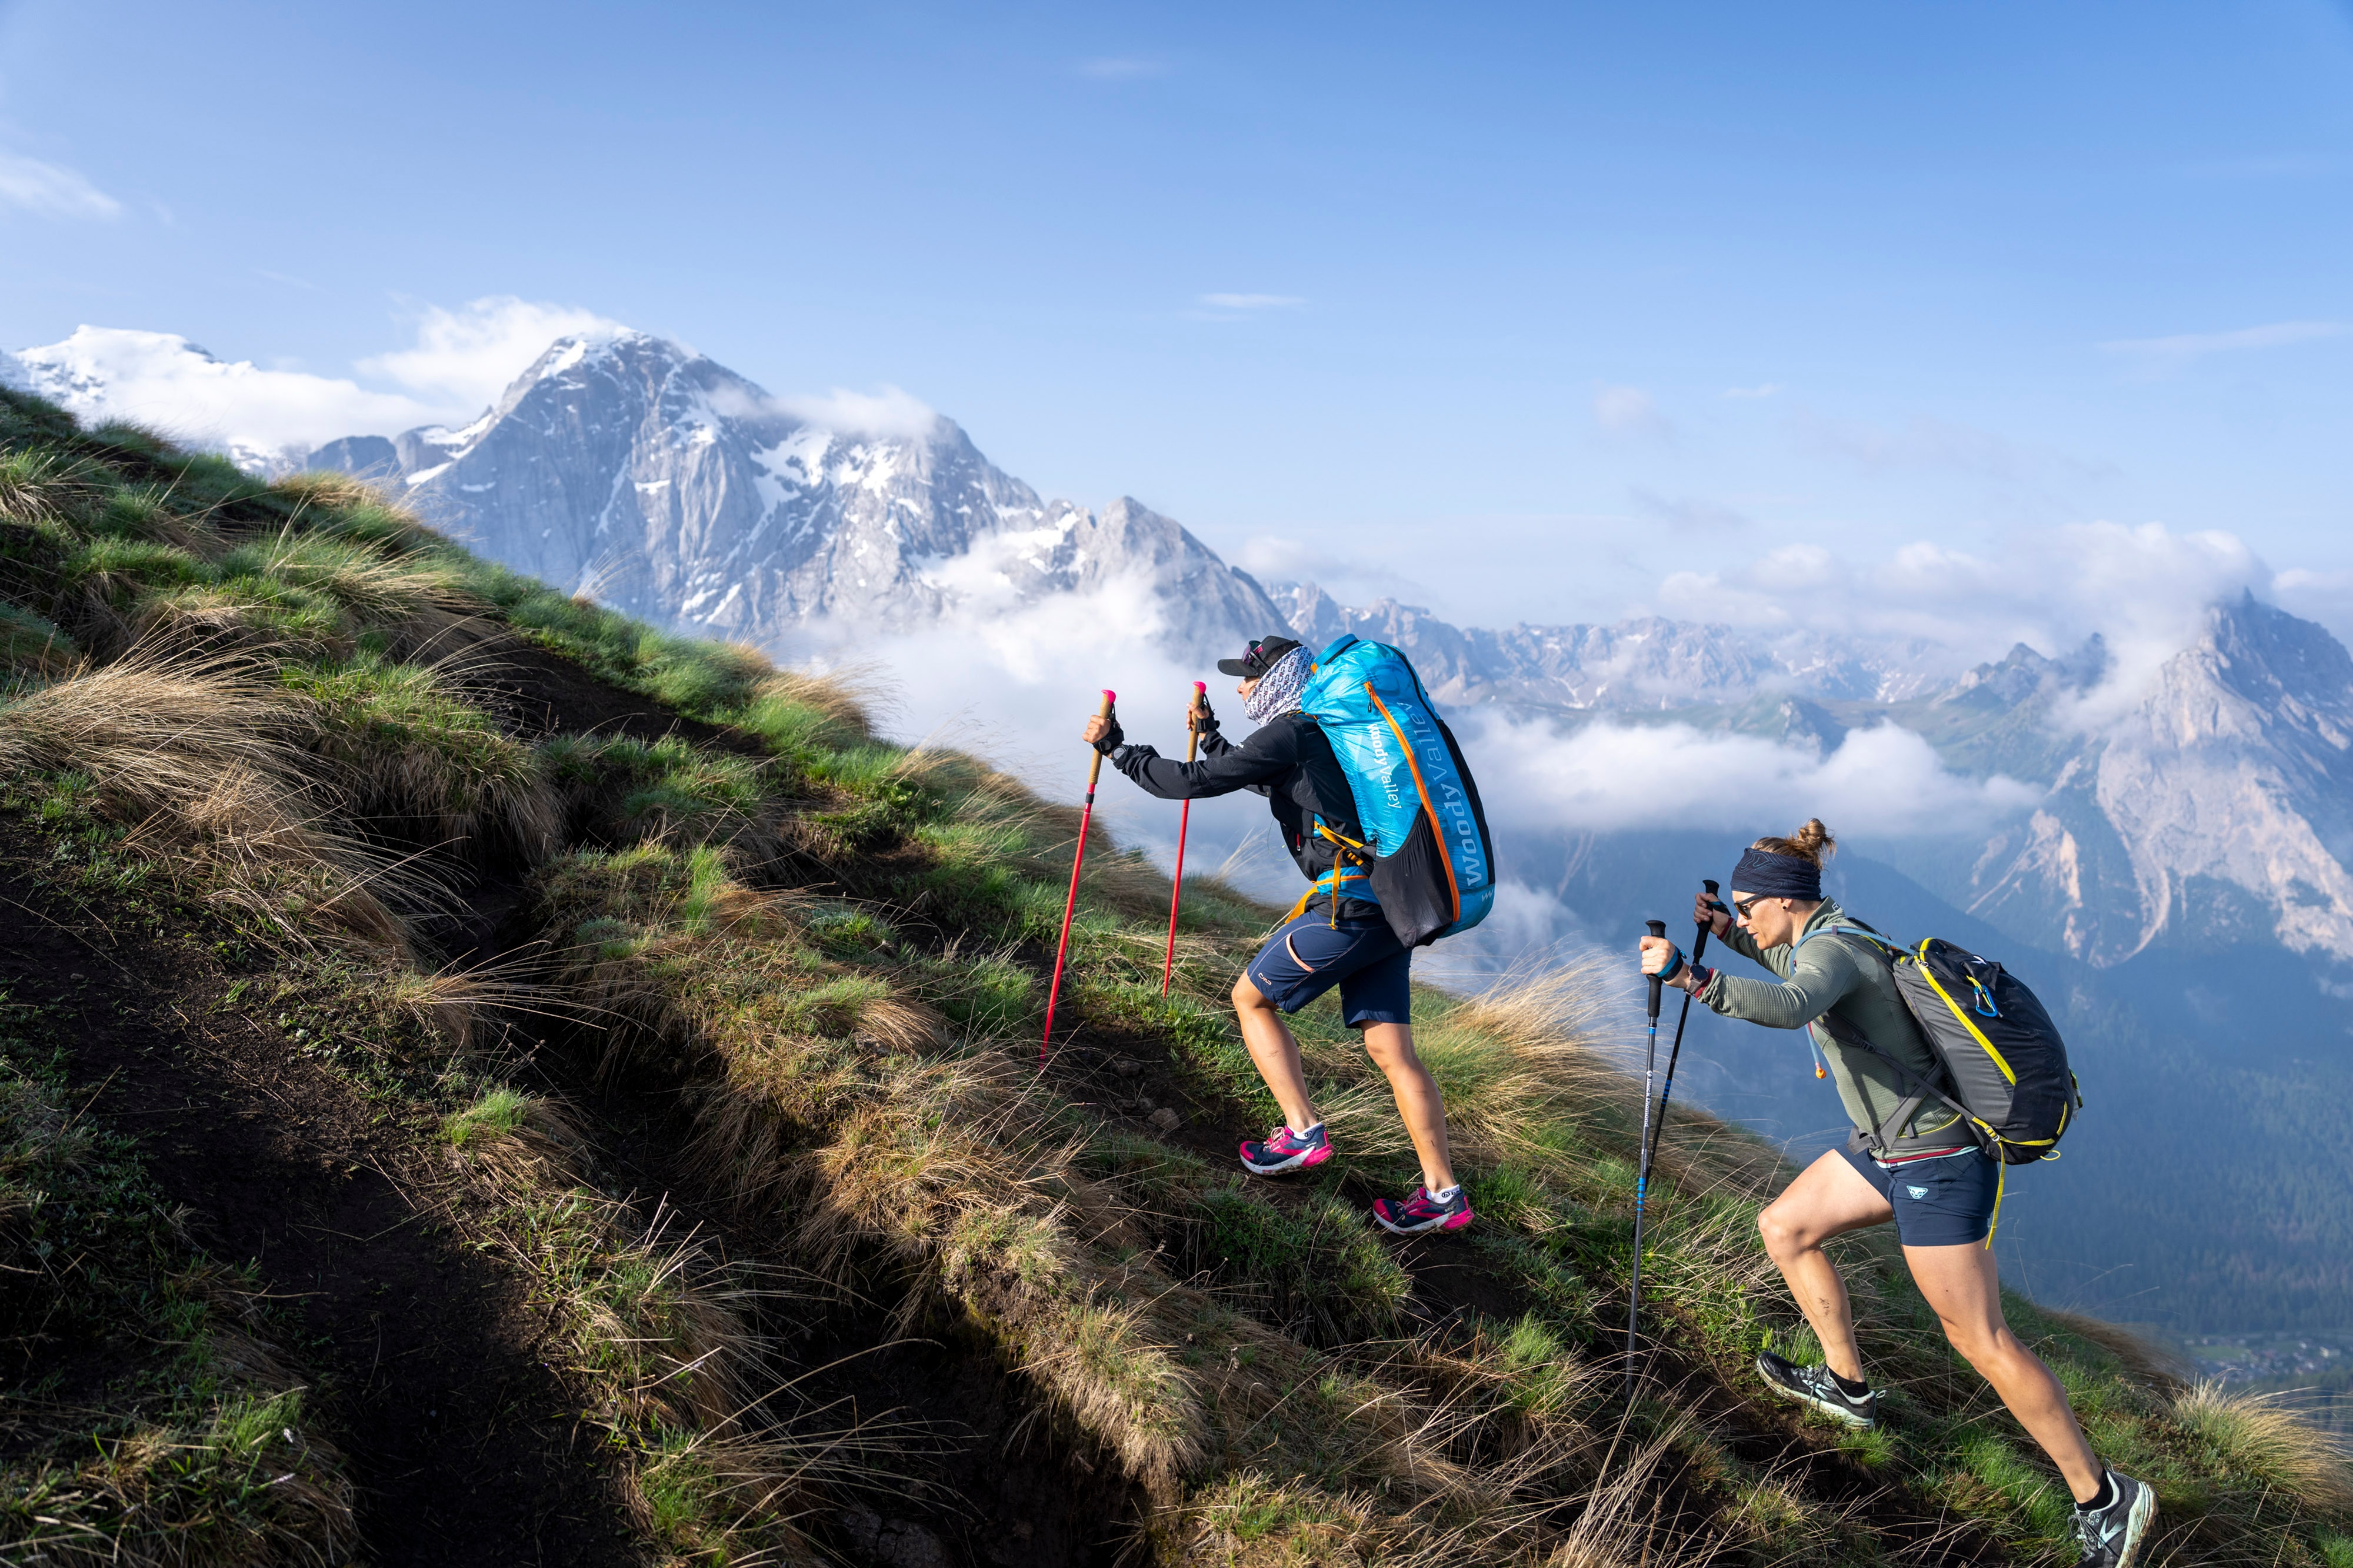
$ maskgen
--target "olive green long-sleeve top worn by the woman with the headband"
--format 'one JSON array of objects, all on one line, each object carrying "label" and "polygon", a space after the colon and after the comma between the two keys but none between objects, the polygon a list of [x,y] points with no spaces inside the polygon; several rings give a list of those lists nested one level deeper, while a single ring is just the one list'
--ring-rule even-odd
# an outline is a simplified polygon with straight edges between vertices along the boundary
[{"label": "olive green long-sleeve top worn by the woman with the headband", "polygon": [[[1715,979],[1699,989],[1699,1001],[1725,1017],[1744,1017],[1767,1029],[1812,1031],[1831,1067],[1838,1099],[1847,1107],[1847,1121],[1857,1128],[1847,1147],[1861,1149],[1866,1132],[1911,1099],[1913,1090],[1868,1050],[1840,1045],[1824,1029],[1821,1015],[1835,1015],[1852,1034],[1885,1050],[1925,1083],[1937,1081],[1937,1057],[1920,1038],[1920,1026],[1897,991],[1894,972],[1866,951],[1868,939],[1812,935],[1826,925],[1854,925],[1854,921],[1835,899],[1824,899],[1821,909],[1798,930],[1798,939],[1777,949],[1760,949],[1748,932],[1734,925],[1722,944],[1765,965],[1779,979],[1739,979],[1718,970]],[[1958,1121],[1960,1116],[1932,1099],[1920,1107],[1901,1137],[1889,1140],[1887,1151],[1901,1156],[1962,1149],[1969,1137],[1965,1128],[1955,1125]]]}]

